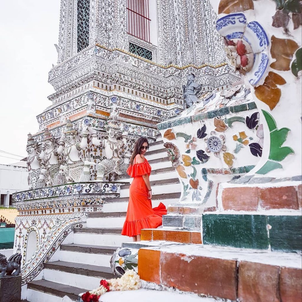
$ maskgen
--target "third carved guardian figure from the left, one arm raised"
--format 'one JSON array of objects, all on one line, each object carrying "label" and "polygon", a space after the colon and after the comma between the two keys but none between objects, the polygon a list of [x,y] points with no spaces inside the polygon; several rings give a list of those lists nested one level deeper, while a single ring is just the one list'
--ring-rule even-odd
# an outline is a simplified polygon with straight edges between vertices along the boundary
[{"label": "third carved guardian figure from the left, one arm raised", "polygon": [[[65,145],[65,168],[64,173],[67,182],[88,182],[90,181],[89,166],[95,165],[94,162],[82,161],[79,156],[79,151],[87,147],[87,138],[89,129],[83,125],[82,140],[81,143],[76,142],[77,130],[73,128],[70,120],[66,121],[66,127],[64,135],[60,139],[60,145]],[[87,171],[88,167],[88,171]],[[84,173],[83,173],[84,172]]]}]

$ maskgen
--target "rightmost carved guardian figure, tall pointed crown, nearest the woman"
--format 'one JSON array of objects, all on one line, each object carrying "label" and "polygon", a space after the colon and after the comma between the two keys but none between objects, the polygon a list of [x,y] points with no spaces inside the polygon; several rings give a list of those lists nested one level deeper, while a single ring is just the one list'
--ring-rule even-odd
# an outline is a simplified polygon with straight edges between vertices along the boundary
[{"label": "rightmost carved guardian figure, tall pointed crown, nearest the woman", "polygon": [[[117,121],[118,109],[114,105],[111,108],[108,117],[108,139],[97,140],[92,137],[92,143],[101,146],[105,150],[105,157],[98,164],[97,180],[102,181],[105,175],[112,172],[117,175],[123,175],[128,169],[128,164],[124,163],[123,148],[126,145],[127,133],[121,133],[119,123]],[[130,154],[125,156],[130,157]]]}]

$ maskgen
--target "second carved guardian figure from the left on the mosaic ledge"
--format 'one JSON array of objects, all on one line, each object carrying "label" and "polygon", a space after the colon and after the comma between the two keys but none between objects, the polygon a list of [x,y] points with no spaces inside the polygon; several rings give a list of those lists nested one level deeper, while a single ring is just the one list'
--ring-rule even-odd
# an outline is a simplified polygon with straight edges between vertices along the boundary
[{"label": "second carved guardian figure from the left on the mosaic ledge", "polygon": [[[60,164],[58,160],[59,154],[63,152],[63,144],[60,143],[58,148],[55,148],[55,139],[47,129],[44,133],[44,141],[42,144],[42,151],[40,159],[44,160],[47,174],[45,182],[47,185],[63,185],[62,179],[58,178]],[[64,180],[63,180],[64,181]]]}]

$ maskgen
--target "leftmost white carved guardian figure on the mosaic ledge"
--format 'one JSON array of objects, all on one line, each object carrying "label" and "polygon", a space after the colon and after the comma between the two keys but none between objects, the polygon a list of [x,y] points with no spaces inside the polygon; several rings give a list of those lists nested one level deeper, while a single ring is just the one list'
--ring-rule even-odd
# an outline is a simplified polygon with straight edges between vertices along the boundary
[{"label": "leftmost white carved guardian figure on the mosaic ledge", "polygon": [[37,143],[32,138],[31,133],[27,135],[27,169],[28,169],[28,185],[30,189],[40,188],[39,185],[39,177],[41,172],[41,159],[40,156],[37,154]]}]

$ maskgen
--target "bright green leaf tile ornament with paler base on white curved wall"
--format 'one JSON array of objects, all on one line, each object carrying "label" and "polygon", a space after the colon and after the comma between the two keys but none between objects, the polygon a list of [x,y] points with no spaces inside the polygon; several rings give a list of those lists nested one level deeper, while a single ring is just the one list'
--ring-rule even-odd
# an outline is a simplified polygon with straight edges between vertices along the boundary
[{"label": "bright green leaf tile ornament with paler base on white curved wall", "polygon": [[294,150],[291,147],[282,145],[285,143],[288,132],[291,131],[289,128],[277,129],[275,119],[267,111],[262,110],[265,120],[268,124],[268,129],[270,131],[270,150],[268,161],[259,169],[257,174],[266,174],[275,169],[281,169],[281,162],[289,154],[293,154]]}]

